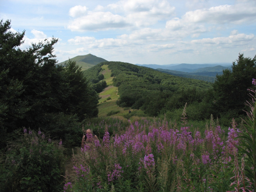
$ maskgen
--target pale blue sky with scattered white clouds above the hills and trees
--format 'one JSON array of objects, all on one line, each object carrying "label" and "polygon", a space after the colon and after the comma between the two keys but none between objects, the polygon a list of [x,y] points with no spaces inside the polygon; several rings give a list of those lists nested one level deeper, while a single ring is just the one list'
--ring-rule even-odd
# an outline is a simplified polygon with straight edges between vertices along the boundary
[{"label": "pale blue sky with scattered white clouds above the hills and trees", "polygon": [[59,62],[232,63],[256,55],[256,0],[0,0],[24,49],[54,36]]}]

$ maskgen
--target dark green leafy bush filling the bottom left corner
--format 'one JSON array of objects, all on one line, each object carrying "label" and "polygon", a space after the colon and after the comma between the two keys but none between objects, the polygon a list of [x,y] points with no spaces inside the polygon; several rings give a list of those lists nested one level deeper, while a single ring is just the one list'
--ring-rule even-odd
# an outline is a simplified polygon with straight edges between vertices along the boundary
[{"label": "dark green leafy bush filling the bottom left corner", "polygon": [[0,191],[58,192],[64,174],[64,148],[43,132],[15,131],[0,164]]}]

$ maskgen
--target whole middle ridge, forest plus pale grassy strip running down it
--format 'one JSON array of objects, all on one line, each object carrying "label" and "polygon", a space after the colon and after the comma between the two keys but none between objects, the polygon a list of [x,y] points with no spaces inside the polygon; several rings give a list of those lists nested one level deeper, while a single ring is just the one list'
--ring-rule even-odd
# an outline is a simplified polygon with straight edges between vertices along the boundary
[{"label": "whole middle ridge, forest plus pale grassy strip running down it", "polygon": [[[102,75],[104,78],[100,80]],[[197,109],[212,85],[123,62],[97,64],[86,70],[85,76],[92,84],[107,81],[108,87],[100,92],[99,116],[116,114],[129,119],[132,116],[158,116],[183,108],[186,103]],[[131,111],[130,114],[127,109]],[[205,111],[200,113],[197,114],[199,119],[209,115]]]}]

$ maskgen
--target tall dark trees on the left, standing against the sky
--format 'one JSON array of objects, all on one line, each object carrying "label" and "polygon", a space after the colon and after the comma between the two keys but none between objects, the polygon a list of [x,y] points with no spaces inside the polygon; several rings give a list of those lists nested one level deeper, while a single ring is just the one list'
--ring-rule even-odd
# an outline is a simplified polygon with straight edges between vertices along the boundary
[{"label": "tall dark trees on the left, standing against the sky", "polygon": [[25,31],[10,31],[9,20],[0,21],[0,130],[7,133],[26,127],[52,138],[80,142],[74,135],[79,124],[98,114],[98,95],[76,62],[56,65],[52,54],[56,38],[20,50]]}]

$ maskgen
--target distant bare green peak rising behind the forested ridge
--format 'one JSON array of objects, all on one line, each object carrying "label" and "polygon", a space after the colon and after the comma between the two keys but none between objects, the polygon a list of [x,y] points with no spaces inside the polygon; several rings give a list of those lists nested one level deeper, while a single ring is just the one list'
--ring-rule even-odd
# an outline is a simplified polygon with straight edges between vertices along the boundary
[{"label": "distant bare green peak rising behind the forested ridge", "polygon": [[[102,59],[100,57],[96,57],[95,55],[79,55],[70,59],[71,61],[75,61],[76,64],[82,67],[82,70],[87,70],[92,66],[95,66],[101,62],[107,62],[106,59]],[[59,65],[64,65],[68,60],[58,63]]]}]

